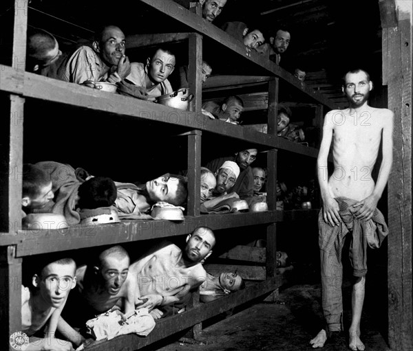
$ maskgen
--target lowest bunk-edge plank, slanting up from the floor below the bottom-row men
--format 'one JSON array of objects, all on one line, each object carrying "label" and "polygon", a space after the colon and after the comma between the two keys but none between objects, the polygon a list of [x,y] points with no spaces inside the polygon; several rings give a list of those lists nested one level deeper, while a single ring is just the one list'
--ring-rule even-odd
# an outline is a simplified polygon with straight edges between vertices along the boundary
[{"label": "lowest bunk-edge plank, slanting up from the floor below the bottom-row men", "polygon": [[156,322],[155,329],[147,337],[138,337],[137,335],[122,335],[109,341],[98,341],[94,345],[87,348],[90,351],[112,351],[112,350],[138,350],[150,345],[156,341],[169,337],[178,330],[191,328],[195,324],[219,315],[220,313],[230,310],[236,306],[240,306],[248,301],[264,296],[276,288],[284,284],[282,275],[277,275],[276,278],[266,280],[247,286],[242,291],[237,291],[226,295],[207,304],[191,308],[187,312],[165,319],[160,319]]}]

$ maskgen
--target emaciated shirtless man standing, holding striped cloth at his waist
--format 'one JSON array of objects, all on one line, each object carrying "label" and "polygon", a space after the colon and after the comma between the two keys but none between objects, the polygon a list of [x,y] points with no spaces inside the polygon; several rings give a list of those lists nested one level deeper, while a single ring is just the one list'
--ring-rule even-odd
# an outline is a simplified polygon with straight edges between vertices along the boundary
[{"label": "emaciated shirtless man standing, holding striped cloth at his waist", "polygon": [[[339,262],[342,245],[339,245],[339,240],[342,242],[344,240],[335,230],[344,231],[344,235],[348,232],[346,225],[349,220],[342,216],[343,212],[347,211],[352,215],[350,220],[354,225],[350,250],[353,250],[353,253],[354,250],[359,250],[361,260],[365,260],[362,262],[364,264],[360,264],[361,269],[357,270],[354,266],[358,263],[357,258],[352,258],[356,281],[352,289],[350,349],[364,350],[360,340],[360,319],[367,271],[366,240],[370,247],[379,247],[379,245],[370,245],[368,236],[366,238],[365,226],[370,225],[368,222],[373,220],[374,223],[379,223],[378,225],[387,229],[383,223],[383,216],[377,210],[377,202],[388,181],[393,146],[393,113],[388,109],[376,109],[368,105],[368,95],[372,88],[372,81],[366,71],[361,69],[348,71],[342,89],[350,102],[350,108],[330,111],[325,117],[317,164],[323,199],[323,209],[319,216],[319,242],[322,301],[327,328],[322,329],[310,341],[313,348],[322,348],[328,337],[334,337],[342,330],[342,266]],[[377,160],[381,138],[383,138],[383,160],[377,183],[374,184],[371,172]],[[331,142],[333,142],[335,171],[330,179],[327,179],[327,157]],[[361,242],[365,240],[364,245],[358,243],[356,226],[361,226],[362,233],[359,237]],[[335,245],[337,245],[337,252],[335,252]],[[363,246],[364,252],[357,245]]]}]

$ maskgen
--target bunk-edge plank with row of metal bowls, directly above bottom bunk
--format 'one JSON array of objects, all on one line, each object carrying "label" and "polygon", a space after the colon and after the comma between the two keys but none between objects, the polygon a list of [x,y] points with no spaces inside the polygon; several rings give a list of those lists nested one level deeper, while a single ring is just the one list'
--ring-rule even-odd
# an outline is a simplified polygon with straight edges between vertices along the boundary
[{"label": "bunk-edge plank with row of metal bowls, directly above bottom bunk", "polygon": [[[19,230],[12,242],[17,245],[17,257],[56,252],[122,242],[154,238],[167,238],[189,234],[199,226],[213,230],[273,223],[276,212],[251,212],[237,214],[207,214],[187,216],[182,222],[169,220],[123,220],[105,225],[72,225],[62,229]],[[10,239],[11,240],[11,239]]]}]

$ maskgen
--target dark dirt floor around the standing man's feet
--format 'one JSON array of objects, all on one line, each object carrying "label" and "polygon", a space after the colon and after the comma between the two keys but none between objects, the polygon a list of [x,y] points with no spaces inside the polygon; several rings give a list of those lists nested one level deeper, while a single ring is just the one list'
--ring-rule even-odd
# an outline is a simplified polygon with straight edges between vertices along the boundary
[{"label": "dark dirt floor around the standing man's feet", "polygon": [[[385,267],[381,267],[385,269]],[[380,270],[369,271],[366,299],[361,320],[361,340],[366,350],[385,351],[387,305],[385,277]],[[236,308],[214,320],[205,321],[201,342],[174,338],[162,341],[147,350],[158,351],[229,351],[229,350],[313,350],[309,344],[321,326],[321,286],[316,276],[305,274],[306,284],[290,284],[280,289],[275,303],[257,302]],[[300,279],[301,282],[303,279]],[[306,279],[304,279],[305,281]],[[369,284],[370,280],[370,284]],[[343,323],[350,323],[351,282],[343,284]],[[215,323],[213,323],[215,322]],[[169,343],[169,345],[168,345]],[[343,335],[335,343],[326,343],[324,351],[350,350],[348,337]],[[146,350],[145,350],[146,351]]]}]

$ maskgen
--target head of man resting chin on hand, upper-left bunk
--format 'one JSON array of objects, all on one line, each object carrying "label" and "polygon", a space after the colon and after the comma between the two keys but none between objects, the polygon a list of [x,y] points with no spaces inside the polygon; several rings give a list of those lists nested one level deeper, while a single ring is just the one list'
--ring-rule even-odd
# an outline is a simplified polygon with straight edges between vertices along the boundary
[{"label": "head of man resting chin on hand, upper-left bunk", "polygon": [[92,46],[107,67],[117,66],[125,55],[125,34],[116,25],[107,25],[96,32]]}]

